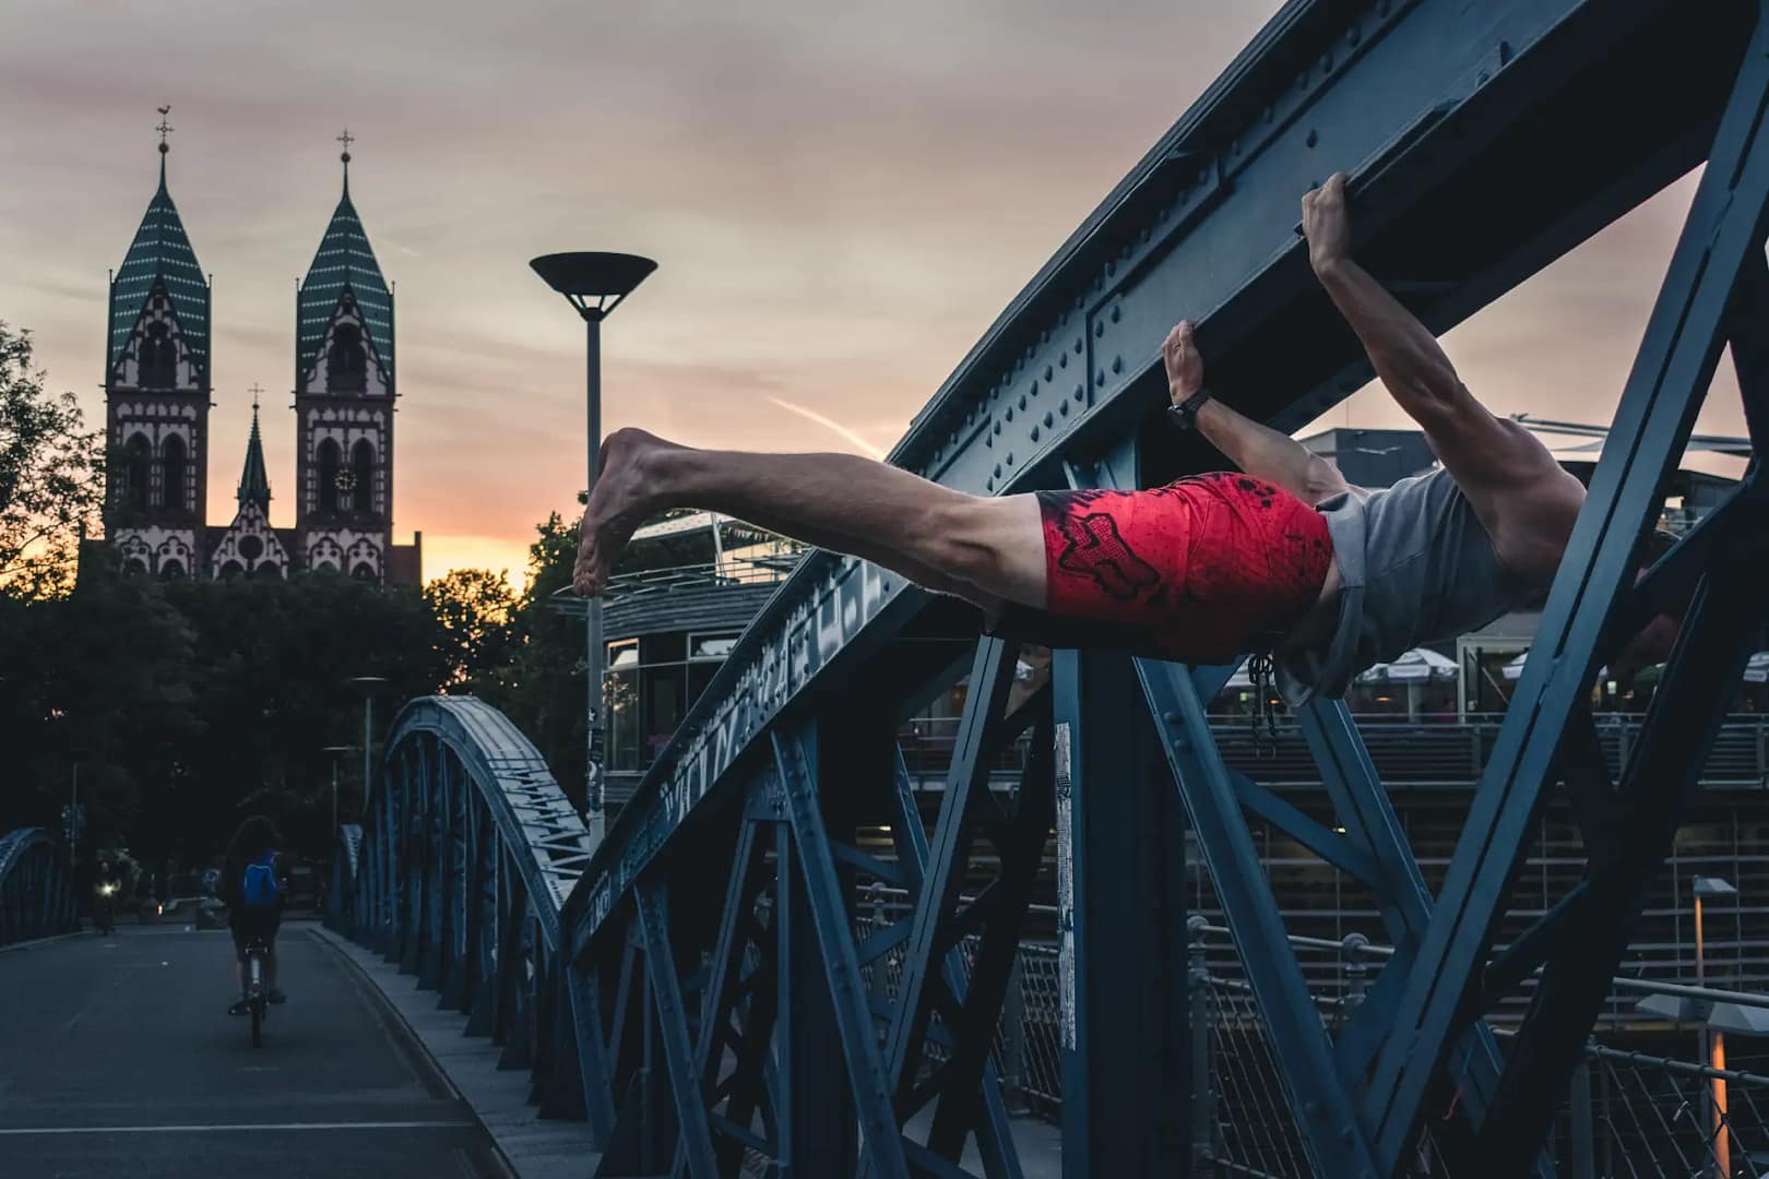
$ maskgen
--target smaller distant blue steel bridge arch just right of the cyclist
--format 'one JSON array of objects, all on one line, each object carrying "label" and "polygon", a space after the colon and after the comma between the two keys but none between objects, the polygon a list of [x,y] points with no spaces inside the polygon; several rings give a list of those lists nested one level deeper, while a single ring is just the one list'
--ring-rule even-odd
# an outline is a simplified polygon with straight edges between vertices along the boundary
[{"label": "smaller distant blue steel bridge arch just right of the cyclist", "polygon": [[469,1036],[534,1071],[545,1114],[582,1115],[561,910],[589,833],[540,751],[474,696],[409,702],[361,825],[338,834],[329,914],[398,962]]}]

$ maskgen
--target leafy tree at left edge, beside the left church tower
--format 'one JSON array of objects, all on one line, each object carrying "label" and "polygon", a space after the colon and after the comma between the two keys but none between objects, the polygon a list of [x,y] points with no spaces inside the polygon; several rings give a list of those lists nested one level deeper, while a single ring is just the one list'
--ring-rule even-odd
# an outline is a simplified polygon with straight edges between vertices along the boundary
[{"label": "leafy tree at left edge, beside the left church tower", "polygon": [[0,322],[0,592],[27,597],[73,587],[104,502],[103,431],[46,378],[32,369],[30,332]]}]

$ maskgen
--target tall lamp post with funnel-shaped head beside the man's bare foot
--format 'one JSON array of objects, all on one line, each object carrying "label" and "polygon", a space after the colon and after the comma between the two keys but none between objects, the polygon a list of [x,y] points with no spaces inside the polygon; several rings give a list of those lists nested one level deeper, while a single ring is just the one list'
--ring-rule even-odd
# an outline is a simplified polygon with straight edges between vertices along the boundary
[{"label": "tall lamp post with funnel-shaped head beside the man's bare foot", "polygon": [[[586,399],[589,403],[589,477],[584,483],[586,502],[596,490],[598,461],[601,458],[601,322],[614,313],[626,295],[633,293],[646,276],[658,269],[651,258],[610,253],[541,255],[529,262],[536,274],[564,295],[584,318],[586,339]],[[601,811],[601,601],[591,599],[584,622],[586,691],[586,757],[584,757],[584,824],[589,827],[591,847],[601,843],[605,817]]]}]

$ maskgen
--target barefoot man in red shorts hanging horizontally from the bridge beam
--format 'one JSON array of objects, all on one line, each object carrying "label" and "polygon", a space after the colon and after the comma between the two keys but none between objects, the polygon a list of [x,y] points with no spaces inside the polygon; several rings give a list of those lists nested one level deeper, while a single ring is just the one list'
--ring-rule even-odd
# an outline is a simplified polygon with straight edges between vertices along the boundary
[{"label": "barefoot man in red shorts hanging horizontally from the bridge beam", "polygon": [[[851,454],[697,451],[621,430],[584,513],[578,592],[601,592],[644,518],[702,507],[973,601],[1028,638],[1083,624],[1076,635],[1185,663],[1270,652],[1291,704],[1489,622],[1553,578],[1585,488],[1475,401],[1431,332],[1352,260],[1344,175],[1302,198],[1302,224],[1314,274],[1438,470],[1348,486],[1325,458],[1212,401],[1182,322],[1162,345],[1169,412],[1238,474],[976,497]],[[1635,647],[1670,633],[1659,619]]]}]

